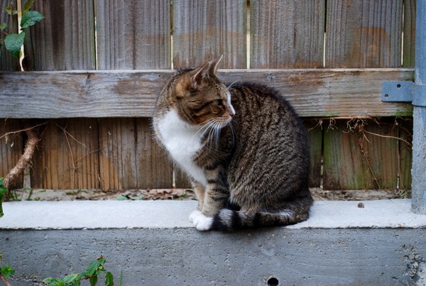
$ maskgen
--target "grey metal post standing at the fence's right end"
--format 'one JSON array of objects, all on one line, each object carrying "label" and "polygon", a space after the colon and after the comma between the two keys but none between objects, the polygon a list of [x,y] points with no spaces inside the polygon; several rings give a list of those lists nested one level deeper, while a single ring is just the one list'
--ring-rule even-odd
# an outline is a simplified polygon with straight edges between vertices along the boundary
[{"label": "grey metal post standing at the fence's right end", "polygon": [[415,214],[426,214],[426,1],[416,5],[411,206]]}]

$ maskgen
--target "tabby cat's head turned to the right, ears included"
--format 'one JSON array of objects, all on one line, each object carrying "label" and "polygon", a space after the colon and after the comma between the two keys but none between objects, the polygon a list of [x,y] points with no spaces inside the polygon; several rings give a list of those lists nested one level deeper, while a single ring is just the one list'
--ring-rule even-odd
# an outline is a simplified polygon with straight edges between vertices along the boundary
[{"label": "tabby cat's head turned to the right, ears included", "polygon": [[215,72],[221,58],[186,72],[175,85],[170,99],[180,117],[192,125],[222,128],[235,115],[231,94]]}]

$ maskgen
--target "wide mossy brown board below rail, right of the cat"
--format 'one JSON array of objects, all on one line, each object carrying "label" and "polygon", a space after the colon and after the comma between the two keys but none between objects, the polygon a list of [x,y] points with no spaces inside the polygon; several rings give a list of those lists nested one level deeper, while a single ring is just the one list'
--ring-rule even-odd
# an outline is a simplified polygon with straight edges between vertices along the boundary
[{"label": "wide mossy brown board below rail, right of the cat", "polygon": [[[356,124],[365,124],[355,130]],[[350,126],[350,127],[349,127]],[[398,126],[339,120],[324,134],[324,189],[397,189],[400,168]]]}]

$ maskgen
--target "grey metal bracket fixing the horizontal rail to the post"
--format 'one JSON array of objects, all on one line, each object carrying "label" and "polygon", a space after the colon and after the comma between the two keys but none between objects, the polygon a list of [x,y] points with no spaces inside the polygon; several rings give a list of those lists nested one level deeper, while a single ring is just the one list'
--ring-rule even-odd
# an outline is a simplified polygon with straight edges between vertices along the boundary
[{"label": "grey metal bracket fixing the horizontal rail to the post", "polygon": [[410,81],[382,82],[381,100],[384,102],[413,102],[415,106],[426,106],[426,85]]}]

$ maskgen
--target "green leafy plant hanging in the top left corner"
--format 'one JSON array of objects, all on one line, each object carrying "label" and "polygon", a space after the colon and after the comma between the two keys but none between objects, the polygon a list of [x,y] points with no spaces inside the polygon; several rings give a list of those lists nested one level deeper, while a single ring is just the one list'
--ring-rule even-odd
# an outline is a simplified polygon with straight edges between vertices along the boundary
[{"label": "green leafy plant hanging in the top left corner", "polygon": [[33,4],[34,1],[27,1],[23,6],[21,31],[17,31],[17,33],[14,33],[13,31],[13,16],[17,16],[19,11],[13,9],[13,4],[10,4],[4,9],[4,11],[11,16],[11,24],[10,32],[7,33],[6,30],[9,28],[8,25],[6,23],[0,23],[0,33],[6,35],[6,38],[0,39],[0,47],[1,45],[5,45],[6,50],[8,50],[9,53],[17,59],[21,57],[21,47],[26,35],[22,30],[35,25],[45,18],[42,13],[38,11],[31,11],[31,6],[33,6]]}]

